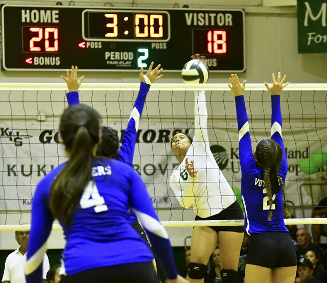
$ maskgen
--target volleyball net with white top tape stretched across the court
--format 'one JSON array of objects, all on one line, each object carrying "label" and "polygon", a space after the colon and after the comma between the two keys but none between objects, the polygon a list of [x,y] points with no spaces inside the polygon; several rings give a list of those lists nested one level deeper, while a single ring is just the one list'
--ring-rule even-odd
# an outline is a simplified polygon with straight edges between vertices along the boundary
[{"label": "volleyball net with white top tape stretched across the court", "polygon": [[[81,103],[94,107],[102,125],[127,126],[139,84],[82,84]],[[241,202],[241,171],[235,99],[227,84],[152,84],[138,127],[134,169],[145,181],[160,220],[167,227],[207,226],[194,222],[192,207],[181,207],[169,178],[178,164],[171,150],[177,133],[194,134],[194,90],[205,90],[211,151]],[[30,223],[38,181],[66,160],[58,126],[65,107],[65,84],[0,84],[1,189],[0,231]],[[263,84],[247,84],[244,93],[252,147],[270,137],[271,100]],[[295,219],[288,224],[325,223],[311,211],[327,196],[327,84],[289,84],[281,95],[283,140],[288,157],[286,194]],[[215,225],[242,225],[216,221]],[[58,226],[59,227],[59,226]],[[58,228],[54,225],[54,229]]]}]

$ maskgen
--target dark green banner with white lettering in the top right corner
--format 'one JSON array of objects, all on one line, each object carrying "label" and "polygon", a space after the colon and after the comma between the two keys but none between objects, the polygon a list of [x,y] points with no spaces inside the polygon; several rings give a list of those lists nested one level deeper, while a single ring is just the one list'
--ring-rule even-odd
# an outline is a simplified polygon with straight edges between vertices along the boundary
[{"label": "dark green banner with white lettering in the top right corner", "polygon": [[299,53],[327,52],[326,13],[326,0],[297,0]]}]

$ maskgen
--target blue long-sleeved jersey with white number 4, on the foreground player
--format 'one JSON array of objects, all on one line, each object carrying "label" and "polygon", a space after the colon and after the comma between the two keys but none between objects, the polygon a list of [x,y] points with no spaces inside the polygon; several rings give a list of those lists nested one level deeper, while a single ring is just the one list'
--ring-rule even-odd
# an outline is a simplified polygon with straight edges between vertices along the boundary
[{"label": "blue long-sleeved jersey with white number 4, on the foreground player", "polygon": [[[52,182],[65,166],[44,176],[32,203],[32,224],[27,253],[27,283],[41,282],[42,257],[51,232]],[[166,277],[176,278],[168,234],[160,224],[141,177],[127,164],[110,159],[94,162],[92,180],[84,188],[80,208],[70,226],[64,226],[63,262],[67,275],[84,270],[128,263],[151,262],[153,255],[129,222],[134,209],[145,228]]]}]

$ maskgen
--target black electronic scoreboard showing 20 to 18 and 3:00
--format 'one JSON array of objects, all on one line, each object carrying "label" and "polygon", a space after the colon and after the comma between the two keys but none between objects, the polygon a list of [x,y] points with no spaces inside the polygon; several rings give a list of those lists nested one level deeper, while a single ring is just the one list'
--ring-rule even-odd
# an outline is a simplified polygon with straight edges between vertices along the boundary
[{"label": "black electronic scoreboard showing 20 to 18 and 3:00", "polygon": [[128,71],[151,61],[180,72],[195,53],[211,72],[245,72],[244,11],[2,7],[5,70]]}]

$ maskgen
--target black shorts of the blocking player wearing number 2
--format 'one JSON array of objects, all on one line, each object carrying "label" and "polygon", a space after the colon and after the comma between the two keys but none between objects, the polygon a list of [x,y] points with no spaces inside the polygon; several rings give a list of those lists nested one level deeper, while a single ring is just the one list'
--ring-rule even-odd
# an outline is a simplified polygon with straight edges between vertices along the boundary
[{"label": "black shorts of the blocking player wearing number 2", "polygon": [[246,264],[267,268],[296,266],[296,252],[288,232],[252,233]]}]

